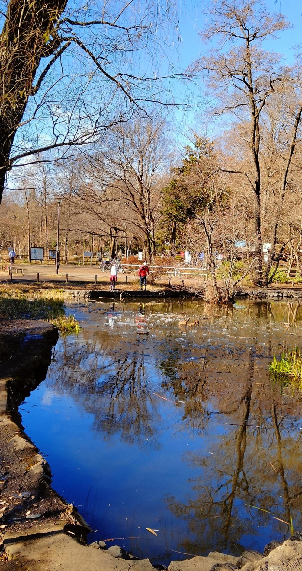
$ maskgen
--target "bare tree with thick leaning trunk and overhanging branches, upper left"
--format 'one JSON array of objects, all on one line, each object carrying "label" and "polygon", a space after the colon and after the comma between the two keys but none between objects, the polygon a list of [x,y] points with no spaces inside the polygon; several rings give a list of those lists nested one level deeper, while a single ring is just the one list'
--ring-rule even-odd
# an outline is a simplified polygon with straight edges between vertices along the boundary
[{"label": "bare tree with thick leaning trunk and overhanging branches, upper left", "polygon": [[59,158],[70,145],[102,138],[135,109],[163,102],[154,50],[164,53],[163,19],[173,28],[168,7],[152,0],[83,6],[10,0],[4,6],[0,202],[7,171],[27,163],[27,156],[56,149]]}]

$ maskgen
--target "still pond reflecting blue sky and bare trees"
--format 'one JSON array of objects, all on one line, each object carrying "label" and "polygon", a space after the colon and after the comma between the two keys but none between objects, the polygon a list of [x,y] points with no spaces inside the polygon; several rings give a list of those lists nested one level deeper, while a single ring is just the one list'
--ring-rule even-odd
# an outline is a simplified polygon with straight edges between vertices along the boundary
[{"label": "still pond reflecting blue sky and bare trees", "polygon": [[[115,538],[108,545],[167,564],[262,551],[289,536],[291,517],[300,528],[302,400],[267,372],[273,353],[299,343],[299,304],[70,311],[82,331],[59,339],[20,411],[89,541]],[[179,325],[186,316],[199,325]]]}]

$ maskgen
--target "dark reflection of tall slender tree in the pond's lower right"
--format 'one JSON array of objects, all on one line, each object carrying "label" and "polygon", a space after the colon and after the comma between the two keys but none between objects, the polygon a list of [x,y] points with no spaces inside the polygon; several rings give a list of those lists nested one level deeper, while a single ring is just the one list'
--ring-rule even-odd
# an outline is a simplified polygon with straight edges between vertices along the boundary
[{"label": "dark reflection of tall slender tree in the pond's lower right", "polygon": [[[199,469],[200,477],[190,480],[191,498],[183,504],[174,497],[168,497],[167,503],[176,517],[188,521],[188,528],[196,541],[185,540],[179,549],[192,552],[200,542],[203,546],[214,549],[230,548],[238,544],[240,538],[246,535],[255,536],[255,521],[263,525],[269,517],[264,512],[254,509],[251,517],[246,517],[247,508],[244,504],[252,504],[263,509],[272,510],[277,517],[289,522],[290,505],[293,500],[299,503],[295,508],[302,513],[302,486],[300,485],[299,469],[292,466],[292,456],[300,458],[301,443],[295,439],[295,429],[299,416],[291,419],[291,425],[284,427],[285,444],[281,443],[280,423],[277,423],[276,403],[272,404],[272,417],[265,414],[259,397],[259,389],[254,384],[253,355],[250,353],[250,380],[245,384],[244,392],[238,395],[237,410],[233,411],[230,421],[239,425],[231,427],[227,434],[220,437],[220,442],[211,447],[211,457],[208,453],[187,455],[187,460],[194,470]],[[267,410],[267,409],[266,409]],[[256,412],[257,411],[257,412]],[[210,415],[213,413],[210,412]],[[257,415],[257,416],[256,416]],[[251,418],[252,417],[252,418]],[[253,420],[256,417],[257,421]],[[253,427],[263,418],[260,431]],[[273,429],[273,436],[272,436]],[[285,436],[286,435],[286,436]],[[269,456],[274,454],[276,461]],[[297,455],[297,456],[296,456]],[[284,459],[287,469],[284,468]],[[275,464],[275,465],[274,465]],[[291,474],[290,487],[286,473]],[[280,476],[277,484],[276,476]],[[281,505],[279,496],[282,497]],[[252,508],[251,508],[252,509]],[[284,514],[285,512],[285,514]],[[272,520],[271,520],[272,521]],[[287,533],[288,528],[282,522],[275,520],[275,528],[279,528],[280,536]],[[256,528],[257,529],[257,528]],[[191,550],[191,551],[190,551]]]}]

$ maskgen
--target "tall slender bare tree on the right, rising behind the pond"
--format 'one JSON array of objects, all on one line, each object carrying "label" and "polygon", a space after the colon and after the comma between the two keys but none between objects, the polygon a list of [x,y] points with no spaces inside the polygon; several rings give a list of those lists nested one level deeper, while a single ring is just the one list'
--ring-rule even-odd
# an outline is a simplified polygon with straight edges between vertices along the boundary
[{"label": "tall slender bare tree on the right, rising behind the pond", "polygon": [[261,145],[263,132],[261,119],[272,96],[284,98],[291,90],[290,103],[286,107],[285,135],[278,151],[281,151],[278,207],[282,206],[288,171],[297,143],[302,112],[302,95],[299,77],[291,70],[283,69],[280,57],[268,53],[261,45],[265,39],[287,29],[288,24],[280,14],[271,15],[257,0],[215,0],[211,5],[210,23],[204,37],[218,38],[220,45],[211,55],[200,59],[196,66],[207,77],[211,89],[220,103],[216,112],[231,114],[241,129],[241,142],[248,148],[248,163],[237,168],[226,163],[224,172],[240,175],[253,193],[254,248],[256,263],[255,283],[267,283],[268,272],[275,256],[278,219],[272,224],[272,248],[267,267],[262,275],[262,244],[267,242],[261,227],[263,172],[261,169]]}]

